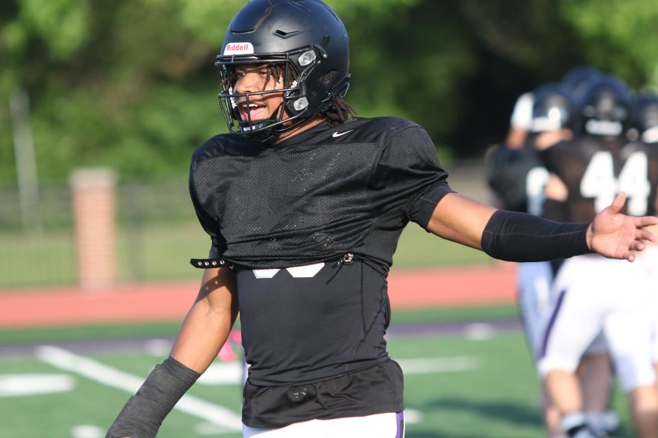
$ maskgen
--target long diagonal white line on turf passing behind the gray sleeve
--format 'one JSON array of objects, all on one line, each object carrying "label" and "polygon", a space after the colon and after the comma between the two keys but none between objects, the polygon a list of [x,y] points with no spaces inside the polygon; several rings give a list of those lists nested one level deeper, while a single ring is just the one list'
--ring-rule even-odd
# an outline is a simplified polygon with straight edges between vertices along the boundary
[{"label": "long diagonal white line on turf passing behind the gray sleeve", "polygon": [[[144,381],[143,377],[128,374],[55,346],[36,348],[36,357],[62,370],[75,372],[103,385],[123,389],[130,394],[134,394]],[[174,409],[202,418],[217,426],[223,426],[232,432],[242,430],[242,421],[239,415],[225,407],[206,402],[195,396],[186,394],[179,400]]]}]

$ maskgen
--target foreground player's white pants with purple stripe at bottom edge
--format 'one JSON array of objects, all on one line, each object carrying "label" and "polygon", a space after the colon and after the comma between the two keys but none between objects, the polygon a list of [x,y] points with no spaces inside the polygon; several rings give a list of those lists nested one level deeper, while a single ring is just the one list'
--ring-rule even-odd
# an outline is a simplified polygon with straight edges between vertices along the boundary
[{"label": "foreground player's white pants with purple stripe at bottom edge", "polygon": [[364,417],[309,420],[282,428],[242,425],[244,438],[404,438],[402,413],[378,413]]}]

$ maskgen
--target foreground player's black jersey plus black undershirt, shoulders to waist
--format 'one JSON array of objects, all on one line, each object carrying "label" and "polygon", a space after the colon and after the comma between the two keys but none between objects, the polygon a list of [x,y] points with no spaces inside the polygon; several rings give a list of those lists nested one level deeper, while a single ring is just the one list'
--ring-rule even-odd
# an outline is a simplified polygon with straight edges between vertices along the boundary
[{"label": "foreground player's black jersey plus black undershirt, shoulders to waist", "polygon": [[322,123],[278,144],[221,135],[195,152],[211,257],[237,267],[247,426],[402,409],[386,274],[404,225],[426,227],[451,191],[446,177],[424,129],[400,118]]}]

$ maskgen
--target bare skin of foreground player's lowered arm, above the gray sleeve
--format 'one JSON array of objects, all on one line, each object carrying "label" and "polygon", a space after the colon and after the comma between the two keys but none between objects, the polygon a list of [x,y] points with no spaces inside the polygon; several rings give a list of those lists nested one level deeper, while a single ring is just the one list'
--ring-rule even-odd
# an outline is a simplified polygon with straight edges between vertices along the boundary
[{"label": "bare skin of foreground player's lowered arm, above the gray sleeve", "polygon": [[202,374],[228,339],[237,313],[234,272],[228,268],[205,270],[199,295],[178,332],[171,357]]}]

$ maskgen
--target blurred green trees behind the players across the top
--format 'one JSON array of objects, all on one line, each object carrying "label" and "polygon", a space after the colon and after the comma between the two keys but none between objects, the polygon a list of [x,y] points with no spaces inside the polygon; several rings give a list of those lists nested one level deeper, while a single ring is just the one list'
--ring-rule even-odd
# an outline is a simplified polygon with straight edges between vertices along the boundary
[{"label": "blurred green trees behind the players across the top", "polygon": [[[187,172],[224,131],[213,65],[243,0],[0,3],[0,184],[14,185],[10,99],[30,99],[41,181],[111,166],[123,181]],[[592,64],[658,86],[658,4],[643,0],[333,0],[350,31],[348,101],[424,125],[439,155],[476,157],[516,97]]]}]

